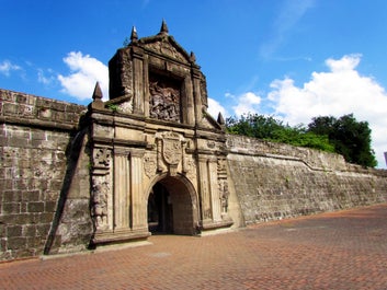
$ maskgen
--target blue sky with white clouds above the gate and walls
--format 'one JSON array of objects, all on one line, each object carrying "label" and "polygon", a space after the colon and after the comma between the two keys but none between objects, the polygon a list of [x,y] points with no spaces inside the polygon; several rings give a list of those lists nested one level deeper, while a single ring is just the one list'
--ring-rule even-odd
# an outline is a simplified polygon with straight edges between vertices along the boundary
[{"label": "blue sky with white clouds above the gate and walls", "polygon": [[136,26],[194,51],[209,112],[297,125],[354,113],[387,151],[385,0],[0,0],[0,88],[88,104]]}]

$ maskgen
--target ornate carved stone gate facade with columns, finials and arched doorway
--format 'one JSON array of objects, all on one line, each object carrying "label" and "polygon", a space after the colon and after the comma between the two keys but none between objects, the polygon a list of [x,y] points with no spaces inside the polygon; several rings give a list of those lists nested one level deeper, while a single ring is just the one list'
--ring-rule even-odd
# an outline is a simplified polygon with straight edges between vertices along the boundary
[{"label": "ornate carved stone gate facade with columns, finials and arched doorway", "polygon": [[110,61],[110,101],[95,96],[89,111],[92,242],[230,227],[225,130],[206,113],[194,54],[164,22],[159,34],[133,30],[130,39]]}]

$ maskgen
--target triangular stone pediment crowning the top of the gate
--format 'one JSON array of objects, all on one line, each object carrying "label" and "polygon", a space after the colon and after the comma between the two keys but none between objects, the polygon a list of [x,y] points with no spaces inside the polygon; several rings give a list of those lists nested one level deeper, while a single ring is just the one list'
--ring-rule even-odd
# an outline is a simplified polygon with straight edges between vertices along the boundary
[{"label": "triangular stone pediment crowning the top of the gate", "polygon": [[170,35],[155,35],[144,37],[138,40],[138,45],[144,49],[160,56],[167,56],[173,60],[190,63],[191,57]]}]

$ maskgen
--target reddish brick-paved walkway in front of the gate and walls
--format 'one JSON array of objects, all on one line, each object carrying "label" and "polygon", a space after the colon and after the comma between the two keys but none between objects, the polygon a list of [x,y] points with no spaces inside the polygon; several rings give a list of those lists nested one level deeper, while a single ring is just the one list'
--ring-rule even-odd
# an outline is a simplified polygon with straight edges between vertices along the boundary
[{"label": "reddish brick-paved walkway in front of the gate and walls", "polygon": [[387,205],[0,264],[0,289],[387,289]]}]

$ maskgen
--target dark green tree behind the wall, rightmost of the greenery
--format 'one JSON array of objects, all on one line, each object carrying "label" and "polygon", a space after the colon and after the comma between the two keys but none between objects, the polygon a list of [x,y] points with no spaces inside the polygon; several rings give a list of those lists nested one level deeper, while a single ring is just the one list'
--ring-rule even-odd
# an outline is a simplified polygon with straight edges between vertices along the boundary
[{"label": "dark green tree behind the wall, rightmost of the greenery", "polygon": [[357,121],[353,114],[339,119],[332,116],[312,118],[308,131],[327,135],[337,153],[350,163],[375,167],[377,161],[371,148],[371,132],[367,121]]}]

